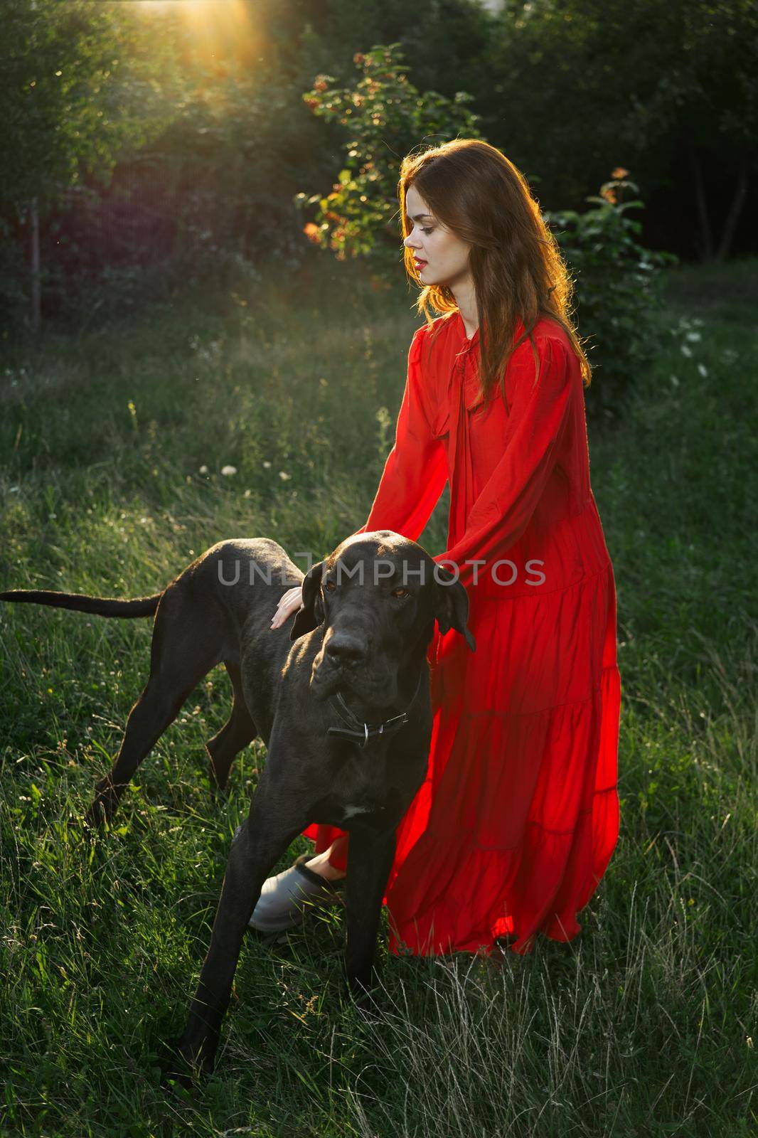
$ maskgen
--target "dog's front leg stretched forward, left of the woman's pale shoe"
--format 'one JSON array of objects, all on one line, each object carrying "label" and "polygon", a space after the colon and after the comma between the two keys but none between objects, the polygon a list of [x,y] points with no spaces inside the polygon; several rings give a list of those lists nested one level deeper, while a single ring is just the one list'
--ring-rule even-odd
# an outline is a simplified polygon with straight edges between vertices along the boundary
[{"label": "dog's front leg stretched forward, left of the woman's pale shoe", "polygon": [[[267,823],[267,824],[266,824]],[[298,819],[287,828],[272,827],[263,794],[256,791],[247,820],[232,840],[221,899],[213,922],[211,947],[203,964],[189,1021],[176,1050],[193,1070],[209,1071],[219,1046],[219,1031],[231,993],[245,929],[266,875],[289,843],[307,824]],[[181,1064],[180,1064],[181,1067]],[[187,1081],[186,1070],[173,1071]]]}]

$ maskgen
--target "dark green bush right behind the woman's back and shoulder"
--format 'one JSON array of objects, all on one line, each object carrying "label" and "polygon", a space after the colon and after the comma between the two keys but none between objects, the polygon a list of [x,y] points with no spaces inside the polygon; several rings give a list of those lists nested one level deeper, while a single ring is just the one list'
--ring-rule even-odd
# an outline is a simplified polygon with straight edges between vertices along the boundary
[{"label": "dark green bush right behind the woman's back and shoulder", "polygon": [[[623,201],[625,190],[638,193],[616,170],[600,196],[586,200],[594,208],[547,212],[561,253],[575,280],[576,322],[593,366],[586,391],[591,417],[620,417],[626,396],[657,349],[656,319],[660,311],[661,270],[676,264],[670,253],[653,253],[635,239],[642,225],[626,216],[642,209],[638,199]],[[593,343],[594,341],[594,343]]]}]

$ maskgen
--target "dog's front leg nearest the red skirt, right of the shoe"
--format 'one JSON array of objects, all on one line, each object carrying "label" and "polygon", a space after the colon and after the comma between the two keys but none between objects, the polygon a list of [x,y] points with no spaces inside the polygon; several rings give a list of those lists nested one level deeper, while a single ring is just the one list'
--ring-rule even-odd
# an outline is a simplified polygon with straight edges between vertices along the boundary
[{"label": "dog's front leg nearest the red skirt, right of the shoe", "polygon": [[395,831],[351,830],[345,882],[347,983],[359,1005],[366,1005],[376,979],[374,957],[381,899],[395,857]]}]

